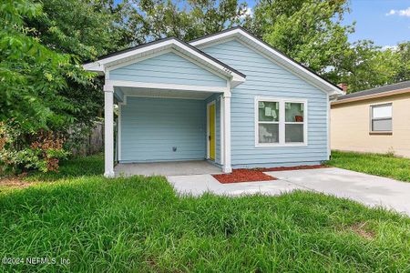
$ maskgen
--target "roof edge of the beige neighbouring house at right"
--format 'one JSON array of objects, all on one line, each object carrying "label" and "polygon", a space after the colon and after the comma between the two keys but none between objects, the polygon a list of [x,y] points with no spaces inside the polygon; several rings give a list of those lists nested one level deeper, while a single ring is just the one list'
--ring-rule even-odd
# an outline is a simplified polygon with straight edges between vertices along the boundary
[{"label": "roof edge of the beige neighbouring house at right", "polygon": [[410,92],[410,81],[405,81],[388,86],[380,86],[372,89],[367,89],[359,92],[350,93],[344,96],[338,96],[336,102],[343,102],[344,100],[352,101],[355,99],[367,99],[373,96],[391,96],[397,92]]}]

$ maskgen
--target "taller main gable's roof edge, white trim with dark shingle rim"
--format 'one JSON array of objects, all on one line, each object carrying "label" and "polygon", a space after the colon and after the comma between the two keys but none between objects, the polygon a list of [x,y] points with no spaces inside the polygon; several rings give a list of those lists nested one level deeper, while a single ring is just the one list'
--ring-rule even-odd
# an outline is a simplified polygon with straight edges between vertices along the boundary
[{"label": "taller main gable's roof edge, white trim with dark shingle rim", "polygon": [[201,48],[213,45],[214,43],[218,43],[229,38],[237,38],[248,45],[252,45],[256,49],[260,50],[261,53],[263,53],[265,56],[271,57],[280,65],[290,69],[298,76],[302,76],[302,78],[313,83],[313,85],[321,87],[321,89],[330,93],[331,95],[343,94],[343,91],[339,86],[336,86],[328,80],[324,79],[322,76],[317,75],[308,67],[303,66],[301,63],[293,60],[289,56],[286,56],[278,49],[273,48],[272,45],[263,42],[261,39],[259,39],[255,35],[252,35],[241,26],[236,26],[230,29],[223,30],[216,34],[200,37],[198,39],[190,41],[190,45]]}]

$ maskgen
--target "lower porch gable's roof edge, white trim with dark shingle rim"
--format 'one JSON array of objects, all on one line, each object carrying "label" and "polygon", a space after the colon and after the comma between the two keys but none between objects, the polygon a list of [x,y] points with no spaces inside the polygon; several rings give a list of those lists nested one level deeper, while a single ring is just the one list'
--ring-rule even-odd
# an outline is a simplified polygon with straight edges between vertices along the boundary
[{"label": "lower porch gable's roof edge, white trim with dark shingle rim", "polygon": [[240,71],[222,63],[220,60],[209,56],[200,51],[195,46],[189,45],[176,37],[168,37],[143,45],[137,45],[125,50],[121,50],[106,56],[101,56],[97,61],[84,64],[84,68],[88,71],[94,71],[101,75],[113,67],[121,66],[132,60],[137,60],[138,57],[157,54],[164,50],[174,50],[184,56],[199,62],[202,66],[207,66],[211,71],[214,71],[221,76],[231,78],[234,86],[245,81],[245,75]]}]

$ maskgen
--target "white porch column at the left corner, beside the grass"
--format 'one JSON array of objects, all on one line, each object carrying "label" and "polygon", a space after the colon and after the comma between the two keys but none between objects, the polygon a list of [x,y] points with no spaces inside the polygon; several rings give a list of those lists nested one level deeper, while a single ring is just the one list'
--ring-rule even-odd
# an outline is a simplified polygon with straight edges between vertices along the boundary
[{"label": "white porch column at the left corner, beside the grass", "polygon": [[114,86],[104,86],[104,177],[114,177]]}]

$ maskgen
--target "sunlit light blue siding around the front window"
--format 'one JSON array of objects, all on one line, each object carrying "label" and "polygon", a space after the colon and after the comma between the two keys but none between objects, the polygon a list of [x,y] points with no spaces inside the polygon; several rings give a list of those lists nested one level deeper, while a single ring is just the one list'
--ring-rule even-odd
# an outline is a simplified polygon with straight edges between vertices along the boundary
[{"label": "sunlit light blue siding around the front window", "polygon": [[[231,96],[232,167],[317,164],[327,159],[327,95],[322,90],[238,41],[202,50],[246,75]],[[255,96],[307,99],[308,146],[255,147]]]}]

